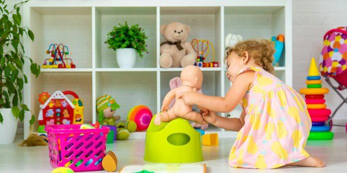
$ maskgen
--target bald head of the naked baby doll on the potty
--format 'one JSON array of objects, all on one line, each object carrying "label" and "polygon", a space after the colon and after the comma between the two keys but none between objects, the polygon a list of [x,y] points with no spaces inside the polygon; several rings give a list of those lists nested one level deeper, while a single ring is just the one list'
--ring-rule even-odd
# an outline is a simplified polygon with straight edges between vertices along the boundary
[{"label": "bald head of the naked baby doll on the potty", "polygon": [[186,66],[183,68],[181,72],[182,85],[196,87],[196,89],[199,90],[202,86],[202,79],[202,71],[197,66]]}]

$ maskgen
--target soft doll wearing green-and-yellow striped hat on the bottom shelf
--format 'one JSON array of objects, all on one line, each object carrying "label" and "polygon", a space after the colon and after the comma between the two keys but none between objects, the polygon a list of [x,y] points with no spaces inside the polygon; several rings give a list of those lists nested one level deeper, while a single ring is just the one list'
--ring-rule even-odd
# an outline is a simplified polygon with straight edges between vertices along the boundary
[{"label": "soft doll wearing green-and-yellow striped hat on the bottom shelf", "polygon": [[115,126],[120,116],[114,116],[116,109],[120,106],[111,95],[104,95],[97,99],[96,110],[99,114],[99,123],[102,125]]}]

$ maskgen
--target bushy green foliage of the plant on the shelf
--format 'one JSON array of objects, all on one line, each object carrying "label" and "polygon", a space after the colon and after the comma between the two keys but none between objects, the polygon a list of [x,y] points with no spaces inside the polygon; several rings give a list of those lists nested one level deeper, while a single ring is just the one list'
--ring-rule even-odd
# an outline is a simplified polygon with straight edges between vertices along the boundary
[{"label": "bushy green foliage of the plant on the shelf", "polygon": [[136,52],[143,57],[142,52],[147,51],[146,33],[138,24],[131,27],[125,22],[123,25],[119,23],[114,26],[113,30],[107,34],[108,38],[105,43],[109,44],[109,48],[116,50],[117,48],[134,48]]}]

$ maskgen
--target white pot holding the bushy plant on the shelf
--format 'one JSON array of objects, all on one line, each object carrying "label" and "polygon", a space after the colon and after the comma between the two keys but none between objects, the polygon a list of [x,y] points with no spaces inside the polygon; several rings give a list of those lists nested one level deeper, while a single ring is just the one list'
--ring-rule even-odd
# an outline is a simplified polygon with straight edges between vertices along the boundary
[{"label": "white pot holding the bushy plant on the shelf", "polygon": [[136,60],[136,50],[134,48],[116,49],[117,63],[119,68],[133,68]]}]

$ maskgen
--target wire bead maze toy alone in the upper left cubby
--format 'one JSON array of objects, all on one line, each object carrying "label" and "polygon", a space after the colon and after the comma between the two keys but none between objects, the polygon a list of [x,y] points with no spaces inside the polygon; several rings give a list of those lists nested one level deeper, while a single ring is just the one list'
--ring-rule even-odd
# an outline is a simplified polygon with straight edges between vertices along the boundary
[{"label": "wire bead maze toy alone in the upper left cubby", "polygon": [[50,44],[46,53],[51,54],[51,57],[45,59],[42,68],[76,68],[72,59],[67,57],[71,52],[66,45],[62,43]]}]

